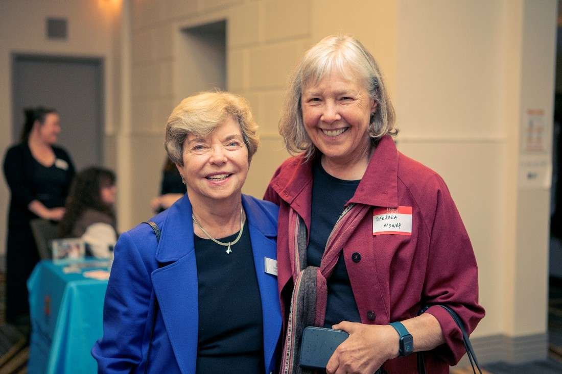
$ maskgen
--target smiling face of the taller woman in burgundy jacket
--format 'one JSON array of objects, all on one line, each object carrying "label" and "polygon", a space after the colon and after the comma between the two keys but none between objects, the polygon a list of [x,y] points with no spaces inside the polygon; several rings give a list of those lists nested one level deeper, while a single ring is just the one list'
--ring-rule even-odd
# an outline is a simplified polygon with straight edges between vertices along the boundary
[{"label": "smiling face of the taller woman in burgundy jacket", "polygon": [[301,107],[306,133],[324,157],[351,162],[368,154],[369,123],[377,103],[360,80],[333,71],[318,84],[303,87]]}]

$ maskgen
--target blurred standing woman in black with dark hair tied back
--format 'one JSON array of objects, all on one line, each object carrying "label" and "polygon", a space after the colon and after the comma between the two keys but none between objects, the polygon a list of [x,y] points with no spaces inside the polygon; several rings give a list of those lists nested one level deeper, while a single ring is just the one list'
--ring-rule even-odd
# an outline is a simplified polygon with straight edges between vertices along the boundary
[{"label": "blurred standing woman in black with dark hair tied back", "polygon": [[24,324],[29,316],[26,281],[39,253],[30,221],[44,218],[60,221],[74,165],[69,154],[56,147],[61,132],[60,117],[52,108],[25,111],[21,142],[4,157],[4,176],[10,188],[6,245],[6,320]]}]

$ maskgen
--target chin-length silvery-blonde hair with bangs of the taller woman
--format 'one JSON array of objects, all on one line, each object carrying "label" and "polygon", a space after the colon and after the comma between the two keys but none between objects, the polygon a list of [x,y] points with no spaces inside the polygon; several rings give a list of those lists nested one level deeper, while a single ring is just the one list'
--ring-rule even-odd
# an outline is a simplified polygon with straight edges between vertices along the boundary
[{"label": "chin-length silvery-blonde hair with bangs of the taller woman", "polygon": [[279,133],[291,154],[303,153],[310,158],[317,152],[302,120],[302,90],[318,84],[330,72],[352,73],[362,83],[370,97],[377,102],[371,117],[369,136],[373,142],[386,134],[396,135],[396,116],[377,62],[359,40],[351,35],[330,35],[310,48],[294,71],[287,90]]}]

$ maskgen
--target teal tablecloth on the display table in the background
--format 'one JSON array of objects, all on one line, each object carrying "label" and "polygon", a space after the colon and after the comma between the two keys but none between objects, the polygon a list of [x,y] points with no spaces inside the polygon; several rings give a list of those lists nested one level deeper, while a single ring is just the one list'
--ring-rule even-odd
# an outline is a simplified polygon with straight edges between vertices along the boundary
[{"label": "teal tablecloth on the display table in the background", "polygon": [[[97,372],[90,349],[102,336],[107,281],[84,277],[81,272],[65,274],[66,266],[42,261],[28,280],[30,374]],[[83,271],[89,270],[94,268]]]}]

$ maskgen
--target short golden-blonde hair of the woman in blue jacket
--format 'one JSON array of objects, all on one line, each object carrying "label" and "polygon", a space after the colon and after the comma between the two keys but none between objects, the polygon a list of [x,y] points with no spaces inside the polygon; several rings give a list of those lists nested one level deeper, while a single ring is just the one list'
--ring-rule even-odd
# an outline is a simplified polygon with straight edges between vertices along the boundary
[{"label": "short golden-blonde hair of the woman in blue jacket", "polygon": [[257,124],[247,100],[229,92],[200,92],[185,98],[174,108],[166,123],[164,148],[171,161],[183,166],[183,143],[189,134],[207,136],[232,117],[238,122],[248,158],[260,144]]}]

